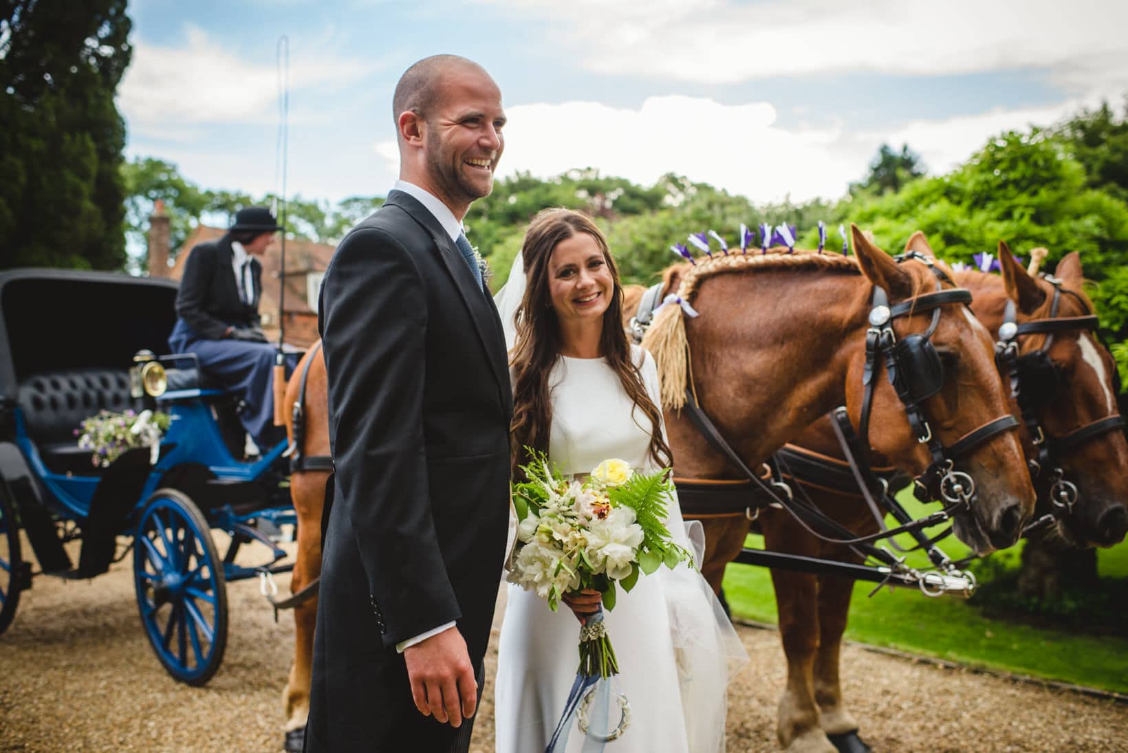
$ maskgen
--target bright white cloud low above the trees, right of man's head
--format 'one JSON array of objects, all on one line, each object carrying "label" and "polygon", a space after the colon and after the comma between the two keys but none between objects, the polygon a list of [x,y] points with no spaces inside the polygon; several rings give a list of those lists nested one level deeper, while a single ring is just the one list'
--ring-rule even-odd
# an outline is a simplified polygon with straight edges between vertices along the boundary
[{"label": "bright white cloud low above the trees, right of man's head", "polygon": [[[677,172],[756,203],[787,195],[797,202],[837,198],[852,180],[864,177],[882,142],[908,143],[932,172],[946,172],[989,136],[1031,123],[1052,124],[1076,112],[1077,105],[914,121],[861,134],[838,126],[783,129],[767,103],[721,105],[668,96],[651,97],[638,109],[588,101],[518,105],[506,108],[499,176],[520,170],[544,178],[596,167],[643,185]],[[374,149],[395,172],[396,142],[381,141]]]}]

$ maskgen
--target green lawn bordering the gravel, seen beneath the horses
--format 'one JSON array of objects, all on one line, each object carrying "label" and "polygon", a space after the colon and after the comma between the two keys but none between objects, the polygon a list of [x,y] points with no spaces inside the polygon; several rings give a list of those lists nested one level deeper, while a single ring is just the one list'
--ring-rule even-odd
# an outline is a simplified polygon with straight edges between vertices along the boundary
[{"label": "green lawn bordering the gravel, seen beneath the horses", "polygon": [[[910,512],[926,510],[911,497],[901,496]],[[907,543],[907,542],[905,542]],[[749,537],[749,546],[764,546],[761,537]],[[953,559],[967,549],[946,539],[942,548]],[[1019,549],[994,557],[1016,561]],[[910,558],[926,566],[924,556]],[[1128,577],[1128,543],[1098,556],[1102,577]],[[985,618],[962,599],[929,599],[917,591],[882,590],[867,597],[874,584],[857,583],[846,638],[874,646],[988,666],[1019,674],[1128,692],[1128,639],[1086,636],[1011,621]],[[768,570],[744,565],[730,566],[724,591],[733,614],[776,623],[775,594]]]}]

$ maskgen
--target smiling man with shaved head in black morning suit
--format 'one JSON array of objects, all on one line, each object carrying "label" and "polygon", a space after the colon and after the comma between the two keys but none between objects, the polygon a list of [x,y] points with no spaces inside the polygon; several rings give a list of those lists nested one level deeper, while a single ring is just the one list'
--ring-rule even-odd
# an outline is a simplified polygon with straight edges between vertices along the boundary
[{"label": "smiling man with shaved head in black morning suit", "polygon": [[505,344],[461,229],[493,188],[501,91],[437,55],[393,108],[399,180],[318,307],[336,472],[307,751],[468,750],[505,549]]}]

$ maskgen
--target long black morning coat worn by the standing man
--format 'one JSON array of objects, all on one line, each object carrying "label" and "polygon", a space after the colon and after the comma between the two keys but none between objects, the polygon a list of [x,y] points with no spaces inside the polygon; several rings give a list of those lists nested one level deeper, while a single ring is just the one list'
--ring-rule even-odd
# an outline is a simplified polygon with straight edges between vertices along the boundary
[{"label": "long black morning coat worn by the standing man", "polygon": [[456,621],[481,677],[509,525],[501,320],[398,191],[337,247],[318,311],[336,471],[306,750],[466,750],[470,721],[421,715],[395,646]]}]

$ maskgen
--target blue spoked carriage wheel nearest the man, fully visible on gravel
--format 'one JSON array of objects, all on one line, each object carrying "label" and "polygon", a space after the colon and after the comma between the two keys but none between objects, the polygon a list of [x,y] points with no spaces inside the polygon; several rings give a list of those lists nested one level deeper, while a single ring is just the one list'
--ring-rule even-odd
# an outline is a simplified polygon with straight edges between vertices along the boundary
[{"label": "blue spoked carriage wheel nearest the man, fully visible on gravel", "polygon": [[133,579],[149,644],[176,680],[202,685],[227,647],[227,586],[211,526],[186,494],[157,489],[134,535]]}]

